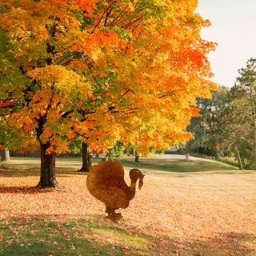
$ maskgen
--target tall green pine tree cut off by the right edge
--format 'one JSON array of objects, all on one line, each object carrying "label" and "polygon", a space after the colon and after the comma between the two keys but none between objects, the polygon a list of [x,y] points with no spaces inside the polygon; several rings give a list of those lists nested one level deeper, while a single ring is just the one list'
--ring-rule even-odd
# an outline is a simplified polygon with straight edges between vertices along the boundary
[{"label": "tall green pine tree cut off by the right edge", "polygon": [[[231,88],[231,101],[229,107],[230,122],[226,125],[226,136],[234,143],[238,161],[250,168],[256,168],[256,117],[255,117],[255,86],[256,86],[256,60],[250,58],[246,68],[238,70],[240,76],[235,86]],[[253,151],[253,154],[251,154]],[[239,164],[241,167],[242,164]]]}]

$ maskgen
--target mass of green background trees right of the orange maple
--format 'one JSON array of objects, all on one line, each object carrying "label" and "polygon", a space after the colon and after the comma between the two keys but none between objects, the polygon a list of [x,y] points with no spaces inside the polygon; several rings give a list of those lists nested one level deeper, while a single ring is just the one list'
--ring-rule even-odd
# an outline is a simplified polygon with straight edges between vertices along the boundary
[{"label": "mass of green background trees right of the orange maple", "polygon": [[198,98],[200,117],[192,118],[188,130],[195,140],[190,150],[220,156],[235,154],[240,169],[256,166],[255,116],[256,59],[238,70],[233,87],[220,86],[212,99]]}]

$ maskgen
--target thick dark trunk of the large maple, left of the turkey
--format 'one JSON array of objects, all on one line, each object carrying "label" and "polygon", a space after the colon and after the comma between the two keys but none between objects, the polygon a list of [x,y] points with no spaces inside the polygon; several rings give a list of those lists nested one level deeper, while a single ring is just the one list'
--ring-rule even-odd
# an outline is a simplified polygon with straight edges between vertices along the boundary
[{"label": "thick dark trunk of the large maple, left of the turkey", "polygon": [[50,147],[50,142],[42,144],[41,146],[41,175],[38,183],[38,188],[58,187],[58,182],[55,177],[55,152],[46,154],[46,150]]}]

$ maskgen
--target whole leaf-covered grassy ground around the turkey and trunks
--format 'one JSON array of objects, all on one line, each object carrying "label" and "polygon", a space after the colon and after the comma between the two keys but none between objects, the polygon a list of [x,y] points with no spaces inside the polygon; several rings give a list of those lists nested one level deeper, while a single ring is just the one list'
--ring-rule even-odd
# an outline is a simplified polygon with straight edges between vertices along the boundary
[{"label": "whole leaf-covered grassy ground around the turkey and trunks", "polygon": [[146,174],[118,223],[86,189],[80,159],[58,161],[62,190],[37,190],[38,159],[0,169],[2,255],[255,255],[256,173],[217,162],[122,161]]}]

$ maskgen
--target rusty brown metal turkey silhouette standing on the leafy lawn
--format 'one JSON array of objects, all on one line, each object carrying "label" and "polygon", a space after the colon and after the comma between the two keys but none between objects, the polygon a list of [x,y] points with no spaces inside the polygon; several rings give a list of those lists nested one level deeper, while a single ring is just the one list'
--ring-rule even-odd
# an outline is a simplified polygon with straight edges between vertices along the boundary
[{"label": "rusty brown metal turkey silhouette standing on the leafy lawn", "polygon": [[138,189],[143,186],[145,175],[138,169],[130,170],[130,186],[124,180],[124,170],[119,162],[102,161],[90,167],[87,177],[87,188],[98,200],[106,205],[106,218],[116,222],[122,214],[116,213],[119,208],[126,209],[130,200],[135,196],[136,182],[139,179]]}]

